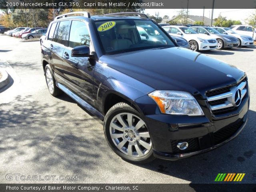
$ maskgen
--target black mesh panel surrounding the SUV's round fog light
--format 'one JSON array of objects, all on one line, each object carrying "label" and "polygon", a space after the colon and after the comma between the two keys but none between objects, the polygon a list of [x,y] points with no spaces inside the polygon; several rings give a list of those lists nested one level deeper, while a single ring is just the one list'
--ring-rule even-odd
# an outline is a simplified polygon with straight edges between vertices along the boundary
[{"label": "black mesh panel surrounding the SUV's round fog light", "polygon": [[[180,142],[187,142],[188,148],[184,150],[180,150],[177,147],[177,144]],[[187,152],[193,152],[199,149],[198,139],[197,138],[191,138],[191,139],[184,139],[184,140],[171,140],[172,145],[172,152],[173,153],[187,153]]]}]

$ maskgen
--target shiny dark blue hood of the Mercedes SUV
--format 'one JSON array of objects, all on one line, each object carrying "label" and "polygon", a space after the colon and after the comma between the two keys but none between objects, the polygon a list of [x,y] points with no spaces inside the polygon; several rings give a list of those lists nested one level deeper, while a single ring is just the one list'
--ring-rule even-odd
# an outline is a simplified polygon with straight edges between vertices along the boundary
[{"label": "shiny dark blue hood of the Mercedes SUV", "polygon": [[199,98],[206,98],[206,91],[234,84],[245,75],[234,66],[180,47],[104,55],[99,62],[155,89],[186,91]]}]

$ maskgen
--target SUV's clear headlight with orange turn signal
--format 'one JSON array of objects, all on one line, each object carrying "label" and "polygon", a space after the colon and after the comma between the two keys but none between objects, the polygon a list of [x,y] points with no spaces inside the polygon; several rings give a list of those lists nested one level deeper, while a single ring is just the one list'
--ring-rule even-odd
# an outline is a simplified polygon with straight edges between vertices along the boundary
[{"label": "SUV's clear headlight with orange turn signal", "polygon": [[158,105],[160,111],[172,115],[204,115],[196,99],[187,92],[156,90],[148,94]]}]

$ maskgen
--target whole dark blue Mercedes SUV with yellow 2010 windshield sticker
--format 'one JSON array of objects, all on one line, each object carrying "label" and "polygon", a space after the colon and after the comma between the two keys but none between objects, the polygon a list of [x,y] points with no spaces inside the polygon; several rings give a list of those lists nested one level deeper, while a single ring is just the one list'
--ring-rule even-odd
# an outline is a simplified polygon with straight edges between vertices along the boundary
[{"label": "whole dark blue Mercedes SUV with yellow 2010 windshield sticker", "polygon": [[[154,38],[140,34],[142,26]],[[41,47],[50,94],[65,92],[104,120],[106,140],[124,160],[206,152],[246,124],[246,74],[178,47],[144,14],[60,15]]]}]

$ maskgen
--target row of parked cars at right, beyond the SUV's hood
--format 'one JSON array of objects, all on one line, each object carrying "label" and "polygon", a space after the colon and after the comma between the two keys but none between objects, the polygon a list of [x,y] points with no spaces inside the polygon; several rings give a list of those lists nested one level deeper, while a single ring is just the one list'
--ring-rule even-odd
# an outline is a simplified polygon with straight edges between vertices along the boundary
[{"label": "row of parked cars at right, beyond the SUV's hood", "polygon": [[[176,40],[179,46],[195,51],[252,45],[254,43],[252,34],[247,31],[240,32],[240,27],[162,26]],[[246,26],[244,28],[250,29],[250,27]]]}]

